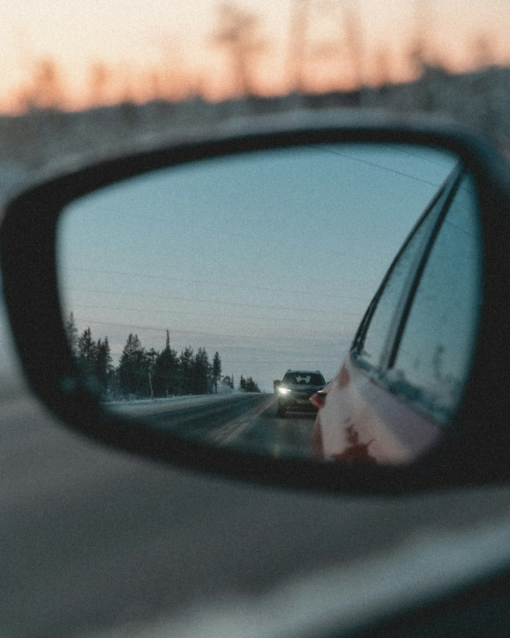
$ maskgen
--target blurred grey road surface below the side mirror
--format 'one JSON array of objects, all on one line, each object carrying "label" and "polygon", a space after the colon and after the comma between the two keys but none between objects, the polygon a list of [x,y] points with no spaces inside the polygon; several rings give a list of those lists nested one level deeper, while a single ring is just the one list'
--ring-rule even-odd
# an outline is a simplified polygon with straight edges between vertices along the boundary
[{"label": "blurred grey road surface below the side mirror", "polygon": [[[173,626],[207,605],[262,604],[289,579],[306,587],[324,569],[339,570],[348,584],[358,565],[361,573],[362,565],[393,560],[424,538],[492,528],[510,517],[510,491],[502,487],[347,498],[187,473],[92,445],[28,394],[14,395],[0,398],[6,638],[156,635],[138,631],[158,619]],[[427,570],[421,561],[416,578]],[[390,587],[391,574],[384,579],[382,587]],[[305,589],[303,614],[307,605],[317,608],[312,594]],[[342,605],[341,595],[337,600]],[[263,616],[271,616],[266,607]],[[221,635],[221,627],[200,635]],[[244,630],[237,635],[248,635]]]}]

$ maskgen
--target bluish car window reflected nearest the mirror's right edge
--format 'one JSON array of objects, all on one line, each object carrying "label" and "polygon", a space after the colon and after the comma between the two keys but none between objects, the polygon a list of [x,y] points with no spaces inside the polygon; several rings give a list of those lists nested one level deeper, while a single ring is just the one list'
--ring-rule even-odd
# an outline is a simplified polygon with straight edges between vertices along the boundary
[{"label": "bluish car window reflected nearest the mirror's right edge", "polygon": [[[458,181],[446,205],[391,375],[401,394],[448,424],[462,398],[479,315],[480,245],[474,184]],[[419,396],[415,396],[419,391]]]}]

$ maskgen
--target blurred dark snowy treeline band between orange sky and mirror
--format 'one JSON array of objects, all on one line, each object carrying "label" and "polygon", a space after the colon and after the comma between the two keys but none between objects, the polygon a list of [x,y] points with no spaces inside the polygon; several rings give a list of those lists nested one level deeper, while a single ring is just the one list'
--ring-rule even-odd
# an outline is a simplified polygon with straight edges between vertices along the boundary
[{"label": "blurred dark snowy treeline band between orange sky and mirror", "polygon": [[352,91],[270,98],[250,95],[218,103],[201,97],[178,102],[152,100],[142,105],[124,101],[80,112],[33,108],[16,117],[0,115],[0,197],[27,171],[72,154],[94,158],[131,143],[134,137],[171,137],[231,117],[333,107],[444,115],[508,140],[510,69],[491,67],[450,75],[443,68],[426,66],[418,80]]}]

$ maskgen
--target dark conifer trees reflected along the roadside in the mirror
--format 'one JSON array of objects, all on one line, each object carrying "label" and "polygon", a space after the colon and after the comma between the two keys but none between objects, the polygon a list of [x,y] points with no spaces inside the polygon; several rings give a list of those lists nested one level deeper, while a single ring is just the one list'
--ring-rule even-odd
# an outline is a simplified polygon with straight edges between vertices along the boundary
[{"label": "dark conifer trees reflected along the roadside in the mirror", "polygon": [[[233,375],[222,376],[218,352],[209,360],[205,348],[187,346],[177,355],[166,330],[163,350],[146,350],[137,334],[130,333],[117,367],[113,365],[108,337],[94,341],[90,327],[78,336],[71,312],[65,324],[73,357],[82,374],[94,379],[105,399],[144,399],[189,394],[217,394],[219,387],[234,389]],[[260,392],[256,382],[241,376],[238,388]]]}]

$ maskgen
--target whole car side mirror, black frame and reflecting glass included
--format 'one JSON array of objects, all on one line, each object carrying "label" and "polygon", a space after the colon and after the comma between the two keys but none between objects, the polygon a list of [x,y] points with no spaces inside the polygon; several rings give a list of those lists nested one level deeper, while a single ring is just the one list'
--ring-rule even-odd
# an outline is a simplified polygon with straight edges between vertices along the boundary
[{"label": "whole car side mirror, black frame and reflecting glass included", "polygon": [[66,167],[4,211],[25,373],[89,438],[201,471],[507,481],[509,183],[470,133],[337,111]]}]

